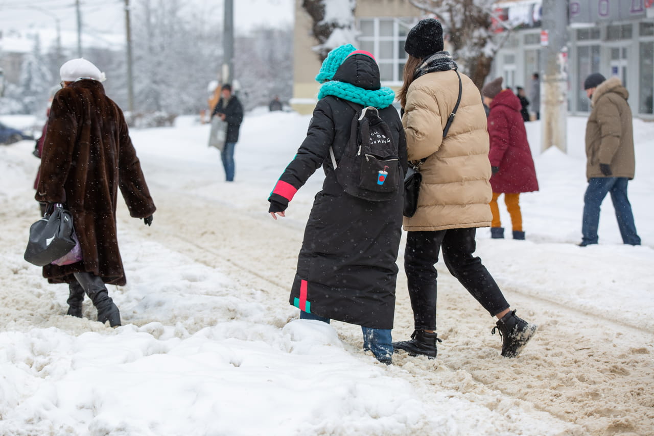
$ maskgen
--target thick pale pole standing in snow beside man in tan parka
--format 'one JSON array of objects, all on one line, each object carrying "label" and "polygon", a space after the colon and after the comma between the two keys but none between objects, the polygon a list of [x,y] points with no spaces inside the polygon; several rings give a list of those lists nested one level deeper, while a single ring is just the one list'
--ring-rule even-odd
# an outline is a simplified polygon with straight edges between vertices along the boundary
[{"label": "thick pale pole standing in snow beside man in tan parka", "polygon": [[541,65],[542,151],[567,149],[568,119],[568,1],[543,0]]}]

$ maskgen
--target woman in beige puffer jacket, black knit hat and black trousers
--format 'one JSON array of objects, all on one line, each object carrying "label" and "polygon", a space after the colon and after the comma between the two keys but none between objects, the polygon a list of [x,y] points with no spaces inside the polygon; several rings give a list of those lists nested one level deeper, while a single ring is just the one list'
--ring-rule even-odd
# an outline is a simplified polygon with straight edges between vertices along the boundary
[{"label": "woman in beige puffer jacket, black knit hat and black trousers", "polygon": [[[407,245],[404,269],[415,330],[409,341],[393,343],[411,355],[435,358],[436,268],[438,253],[449,272],[491,316],[503,337],[502,356],[515,357],[536,331],[515,316],[502,291],[475,251],[477,227],[490,225],[489,135],[481,94],[472,80],[456,71],[443,52],[443,29],[438,20],[419,22],[407,35],[400,104],[409,161],[421,161],[422,183],[418,208],[404,219]],[[447,136],[447,119],[461,99]],[[493,329],[493,332],[495,329]]]}]

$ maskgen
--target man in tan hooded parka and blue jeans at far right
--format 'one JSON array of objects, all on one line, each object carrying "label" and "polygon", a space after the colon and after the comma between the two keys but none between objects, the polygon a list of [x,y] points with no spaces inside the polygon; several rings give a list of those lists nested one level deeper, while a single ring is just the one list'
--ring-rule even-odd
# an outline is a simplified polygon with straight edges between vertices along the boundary
[{"label": "man in tan hooded parka and blue jeans at far right", "polygon": [[588,187],[583,197],[583,221],[580,247],[597,243],[600,206],[611,193],[613,208],[624,243],[640,245],[634,214],[627,198],[627,183],[634,178],[634,134],[629,92],[620,79],[606,80],[594,72],[583,88],[593,110],[586,125],[586,177]]}]

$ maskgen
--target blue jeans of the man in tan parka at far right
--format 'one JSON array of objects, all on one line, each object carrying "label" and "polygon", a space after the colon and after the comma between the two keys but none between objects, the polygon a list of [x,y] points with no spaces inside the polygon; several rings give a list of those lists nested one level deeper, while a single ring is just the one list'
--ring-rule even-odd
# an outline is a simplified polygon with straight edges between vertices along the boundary
[{"label": "blue jeans of the man in tan parka at far right", "polygon": [[586,194],[583,196],[583,221],[581,223],[582,243],[597,243],[597,228],[600,224],[600,206],[604,197],[611,193],[617,226],[624,243],[640,245],[636,234],[634,214],[627,198],[626,177],[594,177],[588,181]]}]

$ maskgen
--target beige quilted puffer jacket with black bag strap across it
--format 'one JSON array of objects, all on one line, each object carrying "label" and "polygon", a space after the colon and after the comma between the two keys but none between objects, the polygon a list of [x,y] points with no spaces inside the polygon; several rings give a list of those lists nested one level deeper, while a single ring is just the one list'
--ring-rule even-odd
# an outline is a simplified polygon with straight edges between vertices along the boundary
[{"label": "beige quilted puffer jacket with black bag strap across it", "polygon": [[456,72],[430,72],[407,91],[402,125],[409,161],[422,164],[418,209],[404,218],[404,230],[490,226],[489,134],[479,89],[461,74],[462,95],[443,139],[447,117],[458,97]]}]

